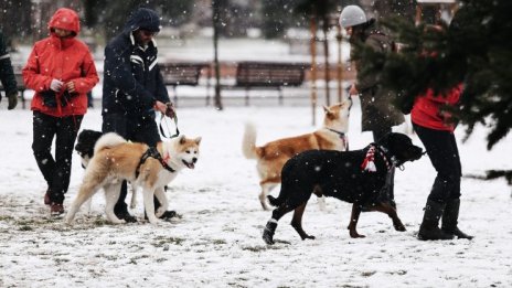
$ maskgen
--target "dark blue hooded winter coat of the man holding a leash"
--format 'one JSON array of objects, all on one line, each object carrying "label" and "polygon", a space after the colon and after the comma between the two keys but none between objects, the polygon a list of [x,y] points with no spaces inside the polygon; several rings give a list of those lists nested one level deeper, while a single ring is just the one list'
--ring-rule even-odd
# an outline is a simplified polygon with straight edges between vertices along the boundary
[{"label": "dark blue hooded winter coat of the man holding a leash", "polygon": [[126,114],[130,117],[154,115],[154,102],[170,102],[163,85],[154,40],[146,49],[139,46],[132,32],[139,29],[158,32],[158,14],[141,8],[124,31],[105,47],[103,115]]}]

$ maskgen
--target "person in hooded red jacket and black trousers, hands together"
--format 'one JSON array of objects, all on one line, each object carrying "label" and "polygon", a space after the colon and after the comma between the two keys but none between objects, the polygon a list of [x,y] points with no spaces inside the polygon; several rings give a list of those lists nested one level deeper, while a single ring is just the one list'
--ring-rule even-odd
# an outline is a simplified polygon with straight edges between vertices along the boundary
[{"label": "person in hooded red jacket and black trousers, hands together", "polygon": [[[32,150],[47,183],[44,203],[53,215],[64,213],[73,145],[87,111],[87,93],[98,83],[93,56],[76,39],[79,19],[61,8],[49,23],[50,36],[38,41],[23,67],[25,86],[35,92]],[[55,158],[52,141],[55,137]]]}]

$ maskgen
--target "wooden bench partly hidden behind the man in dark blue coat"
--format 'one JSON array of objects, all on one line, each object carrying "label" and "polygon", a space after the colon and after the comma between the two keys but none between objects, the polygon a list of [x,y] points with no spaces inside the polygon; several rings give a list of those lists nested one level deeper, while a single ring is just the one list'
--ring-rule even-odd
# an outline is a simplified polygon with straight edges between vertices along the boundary
[{"label": "wooden bench partly hidden behind the man in dark blue coat", "polygon": [[[168,62],[160,64],[162,72],[163,84],[172,86],[174,92],[174,105],[178,106],[177,86],[189,85],[198,86],[199,78],[203,68],[210,67],[207,62]],[[210,79],[210,70],[207,70],[207,78]],[[209,86],[210,82],[206,82]],[[206,87],[207,89],[209,87]]]}]

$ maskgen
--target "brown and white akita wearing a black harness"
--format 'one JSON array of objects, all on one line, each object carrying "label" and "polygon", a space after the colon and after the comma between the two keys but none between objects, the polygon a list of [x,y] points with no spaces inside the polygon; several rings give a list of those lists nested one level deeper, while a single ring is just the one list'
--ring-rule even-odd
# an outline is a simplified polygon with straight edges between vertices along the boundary
[{"label": "brown and white akita wearing a black harness", "polygon": [[[169,205],[164,185],[171,182],[183,168],[195,167],[200,143],[201,137],[189,139],[180,136],[151,148],[145,143],[128,142],[114,132],[102,136],[94,148],[94,157],[85,169],[84,180],[66,215],[66,222],[71,224],[82,204],[103,188],[107,218],[115,224],[125,223],[114,213],[122,180],[142,188],[149,222],[152,224],[160,222],[158,217]],[[157,212],[153,195],[161,204]]]}]

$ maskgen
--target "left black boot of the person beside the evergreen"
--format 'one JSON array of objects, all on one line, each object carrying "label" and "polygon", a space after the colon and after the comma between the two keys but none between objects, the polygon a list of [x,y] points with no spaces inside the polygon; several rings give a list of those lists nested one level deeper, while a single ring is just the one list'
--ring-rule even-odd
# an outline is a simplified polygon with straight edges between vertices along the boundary
[{"label": "left black boot of the person beside the evergreen", "polygon": [[420,241],[437,241],[452,239],[454,235],[447,234],[439,228],[439,218],[445,211],[444,203],[428,200],[425,206],[422,226],[419,226],[418,239]]}]

